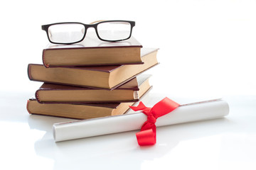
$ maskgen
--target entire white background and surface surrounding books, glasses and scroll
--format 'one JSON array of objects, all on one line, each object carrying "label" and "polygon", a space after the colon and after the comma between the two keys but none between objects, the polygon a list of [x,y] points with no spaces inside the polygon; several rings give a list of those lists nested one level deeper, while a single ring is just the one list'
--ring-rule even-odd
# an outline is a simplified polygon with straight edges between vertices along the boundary
[{"label": "entire white background and surface surrounding books, glasses and scroll", "polygon": [[[256,1],[1,1],[0,169],[255,169]],[[42,63],[41,25],[63,21],[136,21],[133,35],[159,47],[154,91],[176,97],[224,96],[230,115],[157,130],[140,148],[135,132],[55,143],[53,123],[28,115]],[[233,97],[235,96],[235,97]]]}]

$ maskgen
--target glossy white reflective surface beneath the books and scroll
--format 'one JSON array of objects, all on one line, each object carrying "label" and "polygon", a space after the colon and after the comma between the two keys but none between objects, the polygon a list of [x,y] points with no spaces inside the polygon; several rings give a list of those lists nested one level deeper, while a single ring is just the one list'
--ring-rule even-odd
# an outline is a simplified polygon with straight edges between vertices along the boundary
[{"label": "glossy white reflective surface beneath the books and scroll", "polygon": [[0,169],[256,168],[256,96],[227,96],[226,118],[157,128],[139,147],[137,131],[55,143],[53,123],[69,119],[28,115],[28,94],[1,92]]}]

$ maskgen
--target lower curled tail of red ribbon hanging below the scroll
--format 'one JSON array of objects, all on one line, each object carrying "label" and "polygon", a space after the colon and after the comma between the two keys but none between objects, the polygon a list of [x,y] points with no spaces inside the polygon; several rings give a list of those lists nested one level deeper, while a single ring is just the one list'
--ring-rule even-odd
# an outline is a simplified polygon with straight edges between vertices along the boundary
[{"label": "lower curled tail of red ribbon hanging below the scroll", "polygon": [[151,129],[143,130],[136,133],[139,146],[149,146],[156,144],[156,125]]}]

